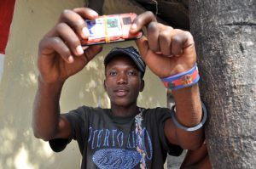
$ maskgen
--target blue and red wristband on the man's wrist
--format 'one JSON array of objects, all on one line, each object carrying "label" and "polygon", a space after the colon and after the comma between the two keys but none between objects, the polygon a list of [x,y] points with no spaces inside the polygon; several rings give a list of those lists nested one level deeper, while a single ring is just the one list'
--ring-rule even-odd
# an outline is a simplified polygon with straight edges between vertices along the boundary
[{"label": "blue and red wristband on the man's wrist", "polygon": [[198,68],[195,64],[194,67],[186,72],[179,73],[175,76],[162,78],[161,81],[165,87],[171,90],[177,90],[183,87],[190,87],[197,83],[200,79]]}]

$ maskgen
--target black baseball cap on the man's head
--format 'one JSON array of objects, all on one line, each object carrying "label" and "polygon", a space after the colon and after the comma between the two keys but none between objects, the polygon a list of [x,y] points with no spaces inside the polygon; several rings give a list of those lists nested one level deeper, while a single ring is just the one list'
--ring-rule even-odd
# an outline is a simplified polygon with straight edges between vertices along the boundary
[{"label": "black baseball cap on the man's head", "polygon": [[141,77],[143,78],[146,70],[146,65],[141,55],[137,52],[137,49],[133,47],[113,48],[104,59],[105,67],[106,65],[108,65],[109,61],[113,59],[114,56],[117,56],[120,54],[129,56],[134,61],[135,65],[137,65],[137,69],[141,72]]}]

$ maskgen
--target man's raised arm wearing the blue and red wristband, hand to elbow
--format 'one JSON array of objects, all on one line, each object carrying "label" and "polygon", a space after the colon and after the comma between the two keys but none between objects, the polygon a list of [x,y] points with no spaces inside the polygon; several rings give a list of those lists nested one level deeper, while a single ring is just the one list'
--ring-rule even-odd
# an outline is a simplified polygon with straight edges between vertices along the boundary
[{"label": "man's raised arm wearing the blue and red wristband, hand to elbow", "polygon": [[143,26],[147,28],[147,36],[137,40],[137,47],[149,69],[172,89],[176,104],[172,116],[176,124],[166,120],[166,138],[183,149],[198,149],[203,142],[202,129],[188,132],[177,125],[195,127],[202,117],[194,39],[189,31],[158,23],[151,12],[138,15],[130,31],[136,33]]}]

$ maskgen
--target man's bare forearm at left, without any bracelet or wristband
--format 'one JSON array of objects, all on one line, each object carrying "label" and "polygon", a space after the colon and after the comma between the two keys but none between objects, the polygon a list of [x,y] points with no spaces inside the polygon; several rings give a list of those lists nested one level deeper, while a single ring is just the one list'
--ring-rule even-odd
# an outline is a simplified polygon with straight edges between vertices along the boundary
[{"label": "man's bare forearm at left, without any bracelet or wristband", "polygon": [[34,100],[32,127],[37,138],[54,137],[60,117],[60,96],[63,83],[45,84],[38,78],[38,92]]}]

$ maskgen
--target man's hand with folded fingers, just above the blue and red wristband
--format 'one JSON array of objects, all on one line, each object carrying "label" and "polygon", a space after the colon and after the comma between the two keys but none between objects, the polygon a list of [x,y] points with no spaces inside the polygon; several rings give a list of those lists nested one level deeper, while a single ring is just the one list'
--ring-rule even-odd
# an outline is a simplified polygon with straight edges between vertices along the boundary
[{"label": "man's hand with folded fingers, just above the blue and red wristband", "polygon": [[195,45],[189,31],[160,24],[151,12],[138,15],[130,31],[136,33],[143,26],[147,28],[147,36],[137,40],[137,47],[155,75],[173,76],[195,65]]}]

